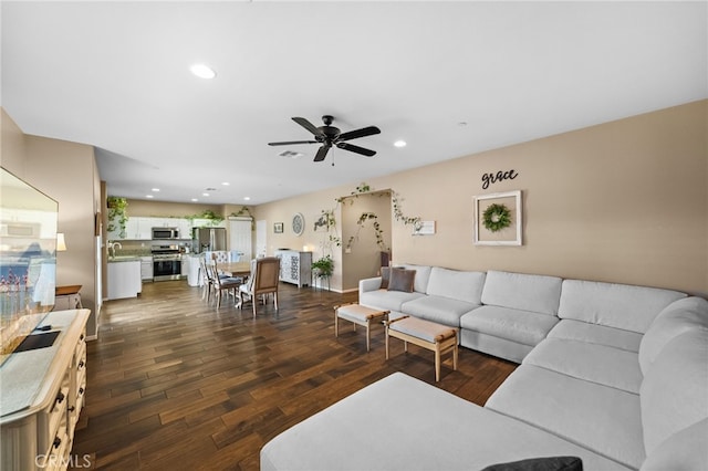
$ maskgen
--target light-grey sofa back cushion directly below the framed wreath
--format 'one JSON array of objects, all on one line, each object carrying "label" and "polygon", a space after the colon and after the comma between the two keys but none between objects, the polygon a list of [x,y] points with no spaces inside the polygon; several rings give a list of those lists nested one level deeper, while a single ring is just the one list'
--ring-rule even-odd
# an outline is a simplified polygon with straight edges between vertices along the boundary
[{"label": "light-grey sofa back cushion directly below the framed wreath", "polygon": [[555,276],[489,271],[481,301],[514,310],[555,315],[562,280]]}]

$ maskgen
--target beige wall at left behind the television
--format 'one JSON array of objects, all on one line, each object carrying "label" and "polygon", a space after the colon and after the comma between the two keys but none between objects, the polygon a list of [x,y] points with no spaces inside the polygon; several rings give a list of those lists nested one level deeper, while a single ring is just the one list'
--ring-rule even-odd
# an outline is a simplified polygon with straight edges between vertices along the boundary
[{"label": "beige wall at left behind the television", "polygon": [[82,285],[83,305],[92,311],[87,333],[95,335],[101,289],[94,214],[101,184],[93,147],[24,135],[4,111],[2,138],[2,166],[59,202],[58,229],[67,251],[58,253],[56,284]]}]

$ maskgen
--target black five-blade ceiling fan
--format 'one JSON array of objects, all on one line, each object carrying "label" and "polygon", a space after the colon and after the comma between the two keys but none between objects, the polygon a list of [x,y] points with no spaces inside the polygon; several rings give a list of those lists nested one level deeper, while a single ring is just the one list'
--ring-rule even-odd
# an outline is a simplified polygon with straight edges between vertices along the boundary
[{"label": "black five-blade ceiling fan", "polygon": [[347,133],[342,133],[337,127],[332,126],[332,122],[334,117],[330,115],[322,116],[322,122],[324,126],[316,127],[308,119],[303,117],[293,117],[292,121],[298,123],[300,126],[308,129],[314,136],[315,140],[288,140],[282,143],[268,143],[269,146],[290,146],[292,144],[322,144],[322,147],[317,150],[317,154],[314,156],[314,161],[322,161],[327,155],[327,151],[332,146],[336,146],[340,149],[350,150],[352,153],[361,154],[366,157],[372,157],[376,155],[375,150],[365,149],[364,147],[355,146],[353,144],[346,143],[346,140],[356,139],[358,137],[372,136],[374,134],[379,134],[381,129],[376,126],[367,126],[362,127],[361,129],[350,130]]}]

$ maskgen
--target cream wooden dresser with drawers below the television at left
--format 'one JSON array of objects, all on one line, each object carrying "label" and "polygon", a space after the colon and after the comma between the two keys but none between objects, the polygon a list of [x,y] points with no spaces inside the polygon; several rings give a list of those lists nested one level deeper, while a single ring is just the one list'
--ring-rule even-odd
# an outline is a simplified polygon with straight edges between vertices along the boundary
[{"label": "cream wooden dresser with drawers below the television at left", "polygon": [[0,470],[67,468],[86,393],[90,314],[88,310],[49,313],[42,324],[51,328],[40,335],[59,332],[53,344],[15,352],[0,368]]}]

